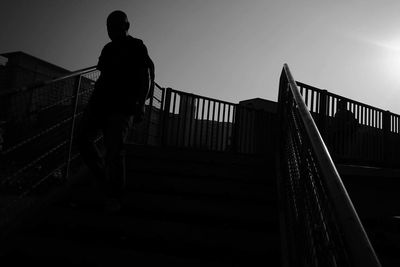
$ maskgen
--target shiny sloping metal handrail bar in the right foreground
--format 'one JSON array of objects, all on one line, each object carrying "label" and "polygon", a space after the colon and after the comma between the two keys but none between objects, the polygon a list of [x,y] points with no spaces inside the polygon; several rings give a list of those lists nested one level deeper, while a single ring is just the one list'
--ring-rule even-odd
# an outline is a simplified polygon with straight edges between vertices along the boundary
[{"label": "shiny sloping metal handrail bar in the right foreground", "polygon": [[287,64],[283,67],[282,75],[286,76],[301,121],[311,141],[312,149],[321,168],[322,179],[337,212],[339,224],[344,233],[343,238],[350,250],[355,266],[381,266]]}]

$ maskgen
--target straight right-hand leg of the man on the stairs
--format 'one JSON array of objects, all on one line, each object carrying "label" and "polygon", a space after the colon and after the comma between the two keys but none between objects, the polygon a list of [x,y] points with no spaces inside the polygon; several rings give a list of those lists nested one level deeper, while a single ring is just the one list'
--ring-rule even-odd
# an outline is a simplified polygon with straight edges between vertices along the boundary
[{"label": "straight right-hand leg of the man on the stairs", "polygon": [[107,194],[112,198],[119,198],[125,187],[123,175],[122,149],[131,125],[130,117],[123,114],[110,114],[104,126],[105,176],[107,180]]}]

